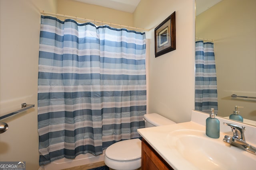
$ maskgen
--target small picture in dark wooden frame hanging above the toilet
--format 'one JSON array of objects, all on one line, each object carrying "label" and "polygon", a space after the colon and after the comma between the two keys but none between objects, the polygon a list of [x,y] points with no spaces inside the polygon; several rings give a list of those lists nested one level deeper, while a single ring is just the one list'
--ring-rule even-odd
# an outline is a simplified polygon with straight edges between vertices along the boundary
[{"label": "small picture in dark wooden frame hanging above the toilet", "polygon": [[176,49],[175,11],[155,28],[155,57]]}]

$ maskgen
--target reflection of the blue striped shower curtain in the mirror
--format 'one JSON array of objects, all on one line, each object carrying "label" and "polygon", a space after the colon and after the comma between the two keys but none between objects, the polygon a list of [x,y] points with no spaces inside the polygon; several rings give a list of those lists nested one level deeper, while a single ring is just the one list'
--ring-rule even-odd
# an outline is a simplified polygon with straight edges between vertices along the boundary
[{"label": "reflection of the blue striped shower curtain in the mirror", "polygon": [[218,113],[217,77],[213,43],[196,41],[195,110]]}]

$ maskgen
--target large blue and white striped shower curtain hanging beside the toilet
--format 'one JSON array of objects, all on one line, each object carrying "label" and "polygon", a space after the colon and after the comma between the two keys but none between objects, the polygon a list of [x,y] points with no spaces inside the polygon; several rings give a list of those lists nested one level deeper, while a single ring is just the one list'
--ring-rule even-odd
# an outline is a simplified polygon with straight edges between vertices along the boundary
[{"label": "large blue and white striped shower curtain hanging beside the toilet", "polygon": [[140,137],[146,113],[145,33],[41,17],[40,165],[98,155]]}]

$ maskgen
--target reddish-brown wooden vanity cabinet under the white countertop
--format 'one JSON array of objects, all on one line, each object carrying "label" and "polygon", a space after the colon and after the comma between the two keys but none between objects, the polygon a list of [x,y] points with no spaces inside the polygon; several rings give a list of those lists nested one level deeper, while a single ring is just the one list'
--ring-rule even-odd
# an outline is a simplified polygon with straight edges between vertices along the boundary
[{"label": "reddish-brown wooden vanity cabinet under the white countertop", "polygon": [[142,138],[142,170],[173,170],[173,168]]}]

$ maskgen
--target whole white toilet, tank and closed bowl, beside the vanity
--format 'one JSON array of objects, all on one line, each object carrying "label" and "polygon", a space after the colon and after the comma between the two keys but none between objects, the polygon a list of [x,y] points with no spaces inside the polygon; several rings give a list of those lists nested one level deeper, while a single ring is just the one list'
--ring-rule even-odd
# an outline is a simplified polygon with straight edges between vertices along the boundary
[{"label": "whole white toilet, tank and closed bowl, beside the vanity", "polygon": [[[174,124],[157,113],[144,115],[145,127]],[[141,141],[129,139],[110,145],[105,152],[105,164],[114,170],[136,170],[141,166]]]}]

